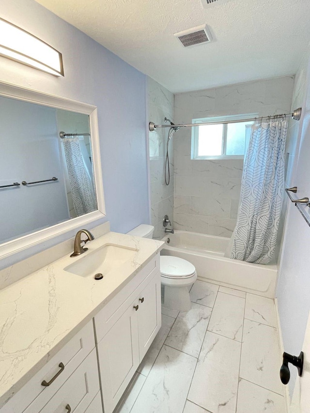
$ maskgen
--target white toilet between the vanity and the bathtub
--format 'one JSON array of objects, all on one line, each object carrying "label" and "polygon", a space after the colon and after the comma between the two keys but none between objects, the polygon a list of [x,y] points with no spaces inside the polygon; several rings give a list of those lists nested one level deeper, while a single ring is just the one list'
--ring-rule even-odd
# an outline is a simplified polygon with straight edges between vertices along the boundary
[{"label": "white toilet between the vanity and the bathtub", "polygon": [[[139,225],[128,232],[136,237],[152,238],[152,225]],[[162,306],[169,310],[187,311],[190,309],[189,289],[197,280],[193,264],[182,258],[170,255],[160,256]]]}]

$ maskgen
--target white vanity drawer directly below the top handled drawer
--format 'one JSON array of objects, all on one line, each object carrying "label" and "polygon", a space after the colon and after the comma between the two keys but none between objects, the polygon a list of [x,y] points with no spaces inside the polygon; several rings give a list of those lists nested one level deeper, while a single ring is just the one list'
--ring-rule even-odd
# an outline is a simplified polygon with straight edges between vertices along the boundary
[{"label": "white vanity drawer directly below the top handled drawer", "polygon": [[94,349],[43,409],[42,406],[38,409],[34,400],[25,413],[84,413],[98,391],[99,376]]}]

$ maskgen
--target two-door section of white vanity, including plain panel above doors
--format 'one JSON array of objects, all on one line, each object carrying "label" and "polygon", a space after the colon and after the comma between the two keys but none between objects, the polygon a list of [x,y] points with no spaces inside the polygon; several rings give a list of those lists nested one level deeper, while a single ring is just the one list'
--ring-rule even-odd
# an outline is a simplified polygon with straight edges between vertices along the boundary
[{"label": "two-door section of white vanity, including plain panel above doors", "polygon": [[157,256],[94,317],[105,413],[113,412],[161,326],[160,299]]}]

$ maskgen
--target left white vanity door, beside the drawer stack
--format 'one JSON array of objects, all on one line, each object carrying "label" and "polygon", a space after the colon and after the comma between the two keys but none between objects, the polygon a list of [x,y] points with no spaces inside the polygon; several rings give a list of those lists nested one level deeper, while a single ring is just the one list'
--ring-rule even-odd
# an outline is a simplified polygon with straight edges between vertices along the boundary
[{"label": "left white vanity door, beside the drawer stack", "polygon": [[139,366],[137,314],[132,303],[98,343],[105,413],[111,413]]}]

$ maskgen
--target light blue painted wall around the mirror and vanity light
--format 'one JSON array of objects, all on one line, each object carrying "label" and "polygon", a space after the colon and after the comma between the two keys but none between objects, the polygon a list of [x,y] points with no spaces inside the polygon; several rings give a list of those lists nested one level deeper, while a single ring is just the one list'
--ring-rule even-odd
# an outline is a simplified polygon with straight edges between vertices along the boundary
[{"label": "light blue painted wall around the mirror and vanity light", "polygon": [[[145,76],[33,0],[1,0],[1,17],[59,50],[65,76],[50,76],[0,57],[0,81],[95,105],[106,220],[119,232],[148,223]],[[74,232],[1,260],[0,268]]]}]

